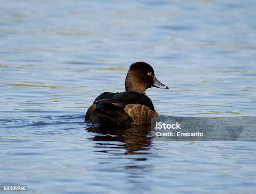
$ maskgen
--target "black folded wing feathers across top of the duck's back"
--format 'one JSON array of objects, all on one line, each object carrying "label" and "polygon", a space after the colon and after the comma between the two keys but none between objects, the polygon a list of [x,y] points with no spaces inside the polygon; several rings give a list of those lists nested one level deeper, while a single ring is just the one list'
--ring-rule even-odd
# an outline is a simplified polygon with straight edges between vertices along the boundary
[{"label": "black folded wing feathers across top of the duck's back", "polygon": [[107,102],[121,108],[125,108],[129,104],[144,105],[154,112],[154,105],[150,98],[138,92],[104,92],[95,99],[94,104],[96,104],[96,107],[98,102]]}]

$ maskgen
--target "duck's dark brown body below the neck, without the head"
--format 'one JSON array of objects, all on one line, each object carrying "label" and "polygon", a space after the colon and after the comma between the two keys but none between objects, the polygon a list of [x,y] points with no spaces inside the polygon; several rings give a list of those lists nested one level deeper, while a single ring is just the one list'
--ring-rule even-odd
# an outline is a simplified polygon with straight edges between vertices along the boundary
[{"label": "duck's dark brown body below the neck, without the head", "polygon": [[100,94],[87,110],[85,120],[93,123],[143,125],[158,117],[149,97],[138,92]]}]

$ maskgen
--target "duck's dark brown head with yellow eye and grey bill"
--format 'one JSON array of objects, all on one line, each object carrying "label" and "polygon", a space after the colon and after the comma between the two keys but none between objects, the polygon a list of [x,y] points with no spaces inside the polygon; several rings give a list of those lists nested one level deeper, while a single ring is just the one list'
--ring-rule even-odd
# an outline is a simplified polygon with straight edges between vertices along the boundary
[{"label": "duck's dark brown head with yellow eye and grey bill", "polygon": [[154,69],[145,62],[136,62],[131,64],[125,78],[125,90],[145,94],[146,89],[157,87],[169,89],[156,79]]}]

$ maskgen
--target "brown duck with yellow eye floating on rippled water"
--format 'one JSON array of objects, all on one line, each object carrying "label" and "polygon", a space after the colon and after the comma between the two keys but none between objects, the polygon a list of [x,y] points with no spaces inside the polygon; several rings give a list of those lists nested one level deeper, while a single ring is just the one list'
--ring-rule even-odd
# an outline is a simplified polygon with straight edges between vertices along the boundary
[{"label": "brown duck with yellow eye floating on rippled water", "polygon": [[146,89],[169,89],[159,82],[152,66],[144,61],[131,64],[125,77],[125,92],[103,92],[88,108],[86,123],[103,125],[146,125],[159,120]]}]

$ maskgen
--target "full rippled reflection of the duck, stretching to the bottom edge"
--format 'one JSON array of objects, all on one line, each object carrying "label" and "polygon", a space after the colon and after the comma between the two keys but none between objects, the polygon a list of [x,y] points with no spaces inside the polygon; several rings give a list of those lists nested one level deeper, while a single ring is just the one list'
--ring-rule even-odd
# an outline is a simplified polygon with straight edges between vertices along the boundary
[{"label": "full rippled reflection of the duck, stretching to the bottom edge", "polygon": [[[89,140],[95,141],[99,154],[98,168],[102,171],[120,171],[125,173],[129,190],[136,193],[150,191],[146,177],[151,174],[154,166],[146,162],[151,154],[151,126],[86,126],[88,132],[94,133]],[[114,157],[112,157],[114,156]],[[102,162],[103,160],[103,162]]]}]

